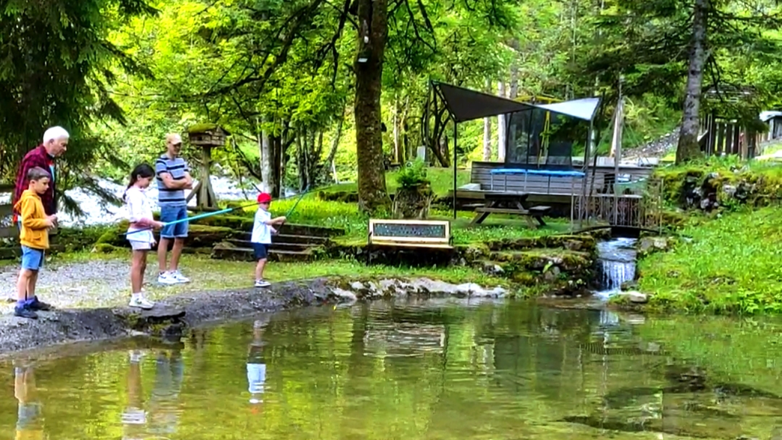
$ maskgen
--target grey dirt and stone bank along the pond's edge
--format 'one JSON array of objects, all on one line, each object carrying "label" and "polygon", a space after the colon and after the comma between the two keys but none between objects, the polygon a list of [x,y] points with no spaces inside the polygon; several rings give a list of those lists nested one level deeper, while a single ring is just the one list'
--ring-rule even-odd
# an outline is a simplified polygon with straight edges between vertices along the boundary
[{"label": "grey dirt and stone bank along the pond's edge", "polygon": [[170,296],[149,311],[127,307],[65,308],[40,312],[37,320],[0,316],[0,356],[41,350],[56,344],[133,337],[178,335],[216,321],[307,305],[339,304],[407,294],[501,298],[501,287],[411,280],[315,280],[275,283],[267,289],[211,290]]}]

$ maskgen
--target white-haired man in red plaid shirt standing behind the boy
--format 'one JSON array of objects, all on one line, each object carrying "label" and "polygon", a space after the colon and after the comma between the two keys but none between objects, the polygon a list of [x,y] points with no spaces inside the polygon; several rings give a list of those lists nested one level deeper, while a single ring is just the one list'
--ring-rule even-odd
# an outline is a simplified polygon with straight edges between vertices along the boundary
[{"label": "white-haired man in red plaid shirt standing behind the boy", "polygon": [[[16,190],[14,191],[12,204],[16,204],[16,200],[22,196],[22,193],[29,182],[27,182],[27,171],[30,168],[43,168],[49,171],[50,179],[49,186],[46,192],[41,194],[41,202],[44,205],[44,211],[46,215],[57,214],[57,203],[55,200],[55,187],[57,185],[57,173],[55,166],[55,158],[62,156],[68,149],[68,139],[70,135],[66,132],[65,128],[52,127],[44,132],[44,139],[41,145],[30,150],[22,159],[19,164],[19,172],[16,173]],[[19,224],[19,213],[13,213],[13,221]],[[38,298],[33,298],[30,308],[34,310],[48,310],[49,305],[38,301]]]}]

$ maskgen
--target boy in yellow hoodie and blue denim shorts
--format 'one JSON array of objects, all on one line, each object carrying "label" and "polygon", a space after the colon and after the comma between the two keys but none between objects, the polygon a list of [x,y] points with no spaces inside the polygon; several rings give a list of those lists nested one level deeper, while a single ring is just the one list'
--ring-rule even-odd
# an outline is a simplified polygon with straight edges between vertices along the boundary
[{"label": "boy in yellow hoodie and blue denim shorts", "polygon": [[38,270],[44,264],[44,252],[48,249],[48,229],[57,220],[56,215],[46,215],[41,194],[48,189],[50,176],[43,168],[27,171],[27,189],[14,208],[20,213],[19,241],[22,245],[22,269],[16,282],[16,307],[14,315],[37,319],[36,310],[48,310],[50,306],[35,296]]}]

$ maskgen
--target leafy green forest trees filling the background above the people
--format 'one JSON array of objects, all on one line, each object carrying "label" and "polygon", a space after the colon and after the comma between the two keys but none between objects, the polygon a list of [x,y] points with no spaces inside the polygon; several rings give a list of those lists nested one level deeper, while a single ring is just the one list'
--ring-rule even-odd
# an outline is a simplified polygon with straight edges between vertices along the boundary
[{"label": "leafy green forest trees filling the background above the people", "polygon": [[[447,115],[436,136],[424,130],[432,79],[610,107],[621,78],[638,142],[680,126],[688,160],[703,111],[749,122],[777,106],[779,13],[771,0],[12,1],[0,16],[0,167],[13,174],[60,124],[74,133],[72,175],[98,161],[119,177],[166,132],[209,122],[233,133],[224,171],[266,173],[277,192],[357,176],[372,211],[387,206],[389,160],[424,145],[452,165]],[[464,125],[462,157],[496,139]]]}]

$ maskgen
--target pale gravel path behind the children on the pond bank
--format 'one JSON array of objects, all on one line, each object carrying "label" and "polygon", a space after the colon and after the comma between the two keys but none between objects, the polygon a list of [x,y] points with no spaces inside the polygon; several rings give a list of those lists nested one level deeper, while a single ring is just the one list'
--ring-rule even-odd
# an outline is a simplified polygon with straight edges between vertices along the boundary
[{"label": "pale gravel path behind the children on the pond bank", "polygon": [[[36,293],[41,301],[58,308],[124,305],[130,295],[129,270],[128,262],[120,259],[65,264],[47,262],[38,277]],[[0,304],[2,313],[13,310],[18,275],[16,265],[0,268],[0,298],[7,298]],[[157,265],[147,265],[145,280],[156,280],[156,276]],[[149,287],[152,285],[145,283],[145,290]]]}]

